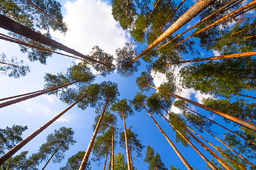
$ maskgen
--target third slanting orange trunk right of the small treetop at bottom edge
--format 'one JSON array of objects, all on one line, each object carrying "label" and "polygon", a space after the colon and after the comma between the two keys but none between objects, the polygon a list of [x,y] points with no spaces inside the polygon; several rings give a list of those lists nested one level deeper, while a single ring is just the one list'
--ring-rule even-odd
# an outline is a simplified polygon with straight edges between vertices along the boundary
[{"label": "third slanting orange trunk right of the small treetop at bottom edge", "polygon": [[[189,132],[186,128],[188,128],[186,125],[181,124],[178,120],[176,120],[176,118],[174,118],[170,113],[167,112],[168,115],[171,116],[171,118],[176,121],[176,123],[178,123],[179,125],[181,125],[183,127],[183,130],[186,130],[186,132],[188,132],[189,135],[191,135],[191,137],[193,137],[194,140],[196,140],[204,149],[206,149],[207,152],[209,152],[218,162],[220,162],[221,165],[223,165],[225,167],[225,169],[232,169],[228,164],[226,164],[223,159],[221,159],[220,157],[218,157],[217,154],[215,154],[210,148],[208,148],[206,145],[203,144],[203,142],[201,142],[200,140],[198,140],[198,138],[196,138],[191,132]],[[185,127],[186,126],[186,127]],[[189,130],[191,130],[190,128],[188,128]],[[192,130],[191,130],[192,131]]]}]

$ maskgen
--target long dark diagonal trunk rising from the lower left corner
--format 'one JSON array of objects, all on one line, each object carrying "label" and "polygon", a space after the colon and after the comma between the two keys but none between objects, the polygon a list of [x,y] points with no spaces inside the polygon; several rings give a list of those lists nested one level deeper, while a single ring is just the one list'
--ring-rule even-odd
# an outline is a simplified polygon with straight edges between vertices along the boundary
[{"label": "long dark diagonal trunk rising from the lower left corner", "polygon": [[[87,94],[88,95],[88,94]],[[16,152],[18,152],[19,149],[21,149],[24,145],[26,145],[28,142],[30,142],[31,140],[33,140],[34,137],[36,137],[39,133],[41,133],[43,130],[45,130],[46,128],[48,128],[49,125],[51,125],[52,123],[55,122],[55,120],[58,120],[58,118],[60,118],[61,115],[63,115],[64,113],[66,113],[68,110],[70,110],[70,108],[73,108],[73,106],[75,106],[75,104],[77,104],[78,102],[82,101],[83,98],[85,98],[87,95],[83,96],[82,98],[80,98],[78,101],[76,101],[75,103],[73,103],[71,106],[69,106],[68,108],[66,108],[63,112],[61,112],[60,114],[56,115],[52,120],[48,121],[48,123],[46,123],[45,125],[43,125],[41,128],[39,128],[38,130],[36,130],[35,132],[33,132],[31,135],[29,135],[28,137],[26,137],[25,140],[22,140],[21,142],[19,142],[15,147],[11,148],[9,150],[9,152],[6,152],[6,154],[4,154],[1,158],[0,158],[0,166],[1,164],[3,164],[4,162],[6,162],[7,159],[9,159],[11,156],[13,156]]]}]

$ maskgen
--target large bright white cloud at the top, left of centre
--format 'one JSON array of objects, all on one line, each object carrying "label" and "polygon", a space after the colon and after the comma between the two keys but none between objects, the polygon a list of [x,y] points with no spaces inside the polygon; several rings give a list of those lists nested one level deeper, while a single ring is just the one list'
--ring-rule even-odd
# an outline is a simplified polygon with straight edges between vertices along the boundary
[{"label": "large bright white cloud at the top, left of centre", "polygon": [[114,21],[112,7],[107,3],[97,0],[68,1],[65,8],[67,14],[64,21],[68,23],[68,33],[65,36],[52,33],[64,45],[85,55],[98,45],[114,55],[115,50],[128,41],[129,34]]}]

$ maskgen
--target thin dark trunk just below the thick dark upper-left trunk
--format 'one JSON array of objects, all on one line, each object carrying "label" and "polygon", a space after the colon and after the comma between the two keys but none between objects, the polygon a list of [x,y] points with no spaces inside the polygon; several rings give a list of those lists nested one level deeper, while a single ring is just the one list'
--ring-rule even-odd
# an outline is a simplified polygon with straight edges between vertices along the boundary
[{"label": "thin dark trunk just below the thick dark upper-left trunk", "polygon": [[[2,33],[0,33],[0,35],[2,35],[2,36],[0,36],[0,39],[1,39],[1,40],[6,40],[6,41],[9,41],[9,42],[14,42],[14,43],[16,43],[16,44],[18,44],[18,45],[25,45],[25,46],[27,46],[27,47],[35,48],[35,49],[37,49],[37,50],[42,50],[42,51],[47,51],[47,52],[53,52],[53,53],[58,54],[58,55],[63,55],[63,56],[67,56],[67,57],[71,57],[71,58],[75,58],[75,59],[81,60],[79,57],[74,57],[74,56],[72,56],[72,55],[65,55],[65,54],[63,54],[63,53],[55,52],[55,51],[53,51],[53,50],[48,50],[48,49],[43,48],[43,47],[37,47],[36,45],[28,44],[28,43],[23,42],[23,41],[21,41],[21,40],[17,40],[17,39],[15,39],[15,38],[11,38],[11,37],[9,37],[8,35],[4,35],[4,34],[2,34]],[[3,36],[4,36],[4,37],[3,37]]]}]

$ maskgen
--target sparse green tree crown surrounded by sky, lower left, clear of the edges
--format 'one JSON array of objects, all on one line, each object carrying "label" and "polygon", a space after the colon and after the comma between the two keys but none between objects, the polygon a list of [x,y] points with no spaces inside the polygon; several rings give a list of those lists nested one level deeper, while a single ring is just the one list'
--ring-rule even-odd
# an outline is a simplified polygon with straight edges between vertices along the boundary
[{"label": "sparse green tree crown surrounded by sky, lower left, clear of the edges", "polygon": [[62,127],[59,130],[54,130],[46,137],[47,142],[41,145],[38,151],[39,157],[47,162],[54,154],[53,163],[60,163],[64,159],[64,152],[76,142],[73,135],[74,132],[71,128]]}]

